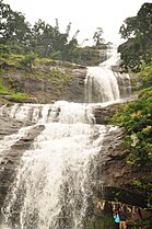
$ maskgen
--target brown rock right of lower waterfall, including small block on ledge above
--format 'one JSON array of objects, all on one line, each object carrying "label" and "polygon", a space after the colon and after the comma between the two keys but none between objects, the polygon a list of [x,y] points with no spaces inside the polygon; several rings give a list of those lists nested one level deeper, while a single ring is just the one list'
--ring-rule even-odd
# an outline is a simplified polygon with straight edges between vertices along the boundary
[{"label": "brown rock right of lower waterfall, including small block on ledge above", "polygon": [[[129,99],[135,100],[136,96]],[[124,100],[126,103],[127,100]],[[94,108],[94,116],[97,124],[107,125],[107,121],[119,111],[119,104],[107,105]],[[108,126],[107,126],[108,127]],[[110,127],[109,127],[110,128]],[[133,186],[132,182],[143,178],[151,178],[152,168],[140,167],[139,169],[126,163],[129,151],[122,146],[125,129],[114,127],[104,137],[103,147],[98,158],[96,158],[97,174],[94,174],[97,182],[95,192],[100,196],[105,196],[114,201],[116,196],[122,203],[135,206],[147,207],[148,193],[140,192]],[[102,181],[102,183],[101,183]],[[104,186],[104,194],[103,194]]]}]

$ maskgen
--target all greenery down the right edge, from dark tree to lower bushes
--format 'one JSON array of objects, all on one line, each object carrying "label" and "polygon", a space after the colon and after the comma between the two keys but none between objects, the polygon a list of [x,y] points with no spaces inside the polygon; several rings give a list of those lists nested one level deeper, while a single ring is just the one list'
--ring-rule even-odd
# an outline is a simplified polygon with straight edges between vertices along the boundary
[{"label": "all greenery down the right edge, from dark tree to lower bushes", "polygon": [[[125,147],[129,149],[127,163],[138,171],[152,167],[152,3],[143,3],[136,16],[125,20],[120,34],[127,42],[118,50],[125,71],[138,72],[140,89],[138,100],[121,105],[112,124],[126,129]],[[152,178],[135,178],[132,187],[147,197],[152,209]]]}]

